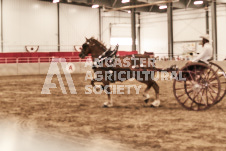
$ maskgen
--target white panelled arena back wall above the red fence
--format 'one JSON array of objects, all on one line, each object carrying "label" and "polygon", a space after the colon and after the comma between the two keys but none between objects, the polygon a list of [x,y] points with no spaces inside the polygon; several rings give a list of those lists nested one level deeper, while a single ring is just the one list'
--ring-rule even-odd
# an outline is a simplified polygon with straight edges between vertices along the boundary
[{"label": "white panelled arena back wall above the red fence", "polygon": [[[40,45],[39,52],[58,51],[57,4],[39,0],[2,0],[3,2],[3,50],[2,52],[25,52],[25,45]],[[218,58],[225,56],[226,7],[217,5]],[[81,45],[85,37],[99,38],[110,46],[111,25],[127,25],[131,16],[125,12],[101,12],[99,31],[98,9],[60,4],[60,51],[73,51],[73,45]],[[210,35],[211,9],[209,8]],[[200,40],[205,34],[205,9],[181,9],[173,11],[174,43]],[[167,14],[141,13],[141,53],[155,52],[167,56]],[[128,30],[129,31],[129,30]],[[130,35],[130,32],[123,33]],[[121,35],[123,37],[123,35]],[[199,47],[200,48],[200,47]],[[131,46],[120,46],[131,50]],[[174,53],[181,53],[174,45]]]}]

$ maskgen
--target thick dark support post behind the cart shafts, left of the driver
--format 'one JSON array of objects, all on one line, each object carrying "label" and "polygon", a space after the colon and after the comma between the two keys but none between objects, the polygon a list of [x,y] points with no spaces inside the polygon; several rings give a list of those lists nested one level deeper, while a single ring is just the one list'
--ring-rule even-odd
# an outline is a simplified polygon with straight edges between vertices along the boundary
[{"label": "thick dark support post behind the cart shafts, left of the driver", "polygon": [[173,5],[168,3],[167,6],[167,22],[168,22],[168,56],[173,58]]}]

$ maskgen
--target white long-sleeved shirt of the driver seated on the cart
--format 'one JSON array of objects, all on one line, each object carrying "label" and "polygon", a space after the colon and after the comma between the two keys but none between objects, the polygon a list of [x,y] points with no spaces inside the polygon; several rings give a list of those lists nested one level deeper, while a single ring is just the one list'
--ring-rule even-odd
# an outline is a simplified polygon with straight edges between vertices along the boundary
[{"label": "white long-sleeved shirt of the driver seated on the cart", "polygon": [[212,46],[209,43],[205,43],[202,52],[192,60],[192,62],[198,62],[199,60],[208,63],[208,59],[210,59],[213,55]]}]

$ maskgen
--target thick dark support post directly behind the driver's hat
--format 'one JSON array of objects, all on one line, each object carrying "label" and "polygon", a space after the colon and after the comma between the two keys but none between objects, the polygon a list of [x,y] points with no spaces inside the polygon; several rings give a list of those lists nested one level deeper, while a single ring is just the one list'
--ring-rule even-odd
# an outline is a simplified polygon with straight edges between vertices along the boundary
[{"label": "thick dark support post directly behind the driver's hat", "polygon": [[212,17],[212,39],[213,39],[213,56],[217,60],[217,3],[211,3],[211,17]]}]

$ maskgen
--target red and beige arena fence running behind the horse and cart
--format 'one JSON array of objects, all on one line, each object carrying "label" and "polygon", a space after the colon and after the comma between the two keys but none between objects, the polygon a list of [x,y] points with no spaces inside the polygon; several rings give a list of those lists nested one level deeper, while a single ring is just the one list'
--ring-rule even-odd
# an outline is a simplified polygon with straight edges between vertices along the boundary
[{"label": "red and beige arena fence running behind the horse and cart", "polygon": [[[136,53],[137,52],[121,52],[120,55],[123,56]],[[0,54],[0,76],[45,75],[48,73],[50,63],[56,58],[65,58],[66,62],[72,63],[74,66],[72,74],[86,73],[88,70],[91,71],[91,66],[85,66],[87,59],[91,60],[90,56],[86,57],[85,59],[81,59],[79,58],[78,54],[78,52],[42,53],[42,55],[40,53],[2,53]],[[45,55],[50,55],[50,57],[46,57]],[[180,68],[184,66],[186,62],[187,61],[183,60],[159,60],[156,61],[156,67],[168,68],[169,66],[176,64]],[[226,70],[226,61],[215,62],[219,64],[224,70]],[[62,71],[60,65],[59,68]]]}]

